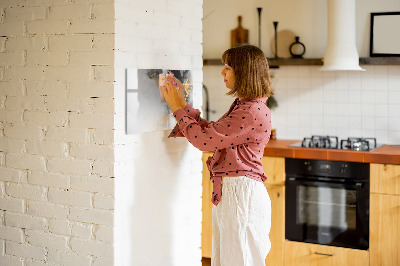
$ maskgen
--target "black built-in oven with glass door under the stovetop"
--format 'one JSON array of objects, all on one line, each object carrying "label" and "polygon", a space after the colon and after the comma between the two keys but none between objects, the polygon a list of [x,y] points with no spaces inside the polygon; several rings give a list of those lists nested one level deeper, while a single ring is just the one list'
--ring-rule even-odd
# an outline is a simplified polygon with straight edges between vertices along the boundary
[{"label": "black built-in oven with glass door under the stovetop", "polygon": [[285,169],[286,239],[368,249],[369,164],[287,158]]}]

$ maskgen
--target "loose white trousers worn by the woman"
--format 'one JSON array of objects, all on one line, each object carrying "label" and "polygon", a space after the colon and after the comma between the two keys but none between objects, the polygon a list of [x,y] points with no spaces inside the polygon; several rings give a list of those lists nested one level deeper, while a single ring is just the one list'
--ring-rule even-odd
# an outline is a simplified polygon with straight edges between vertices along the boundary
[{"label": "loose white trousers worn by the woman", "polygon": [[212,211],[212,266],[262,266],[271,249],[271,201],[262,182],[223,177]]}]

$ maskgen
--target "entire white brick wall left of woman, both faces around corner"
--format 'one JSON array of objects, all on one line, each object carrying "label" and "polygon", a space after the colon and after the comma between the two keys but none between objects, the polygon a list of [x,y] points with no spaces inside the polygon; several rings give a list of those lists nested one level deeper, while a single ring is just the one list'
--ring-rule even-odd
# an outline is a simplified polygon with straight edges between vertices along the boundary
[{"label": "entire white brick wall left of woman, both faces around corner", "polygon": [[124,74],[191,69],[201,106],[201,18],[202,0],[0,2],[1,264],[200,265],[201,152],[125,136]]}]

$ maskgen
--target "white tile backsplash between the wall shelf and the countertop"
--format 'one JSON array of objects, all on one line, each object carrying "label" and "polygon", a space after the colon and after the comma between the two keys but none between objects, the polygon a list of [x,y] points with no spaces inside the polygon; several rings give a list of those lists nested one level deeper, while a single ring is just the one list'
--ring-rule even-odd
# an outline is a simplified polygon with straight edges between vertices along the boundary
[{"label": "white tile backsplash between the wall shelf and the countertop", "polygon": [[[400,144],[400,66],[362,67],[366,71],[327,72],[318,66],[272,69],[278,101],[278,108],[272,110],[272,124],[277,137],[376,137],[382,144]],[[232,99],[223,95],[226,89],[220,84],[219,72],[212,74],[207,68],[204,84],[215,90],[211,94],[220,95],[217,101],[211,97],[211,109],[224,106],[213,114],[217,119]]]}]

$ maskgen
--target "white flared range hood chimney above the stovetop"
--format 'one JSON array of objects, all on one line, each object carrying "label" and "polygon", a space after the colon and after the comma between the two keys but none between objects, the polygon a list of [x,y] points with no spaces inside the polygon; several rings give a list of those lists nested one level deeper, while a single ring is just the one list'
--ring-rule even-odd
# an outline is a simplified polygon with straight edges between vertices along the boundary
[{"label": "white flared range hood chimney above the stovetop", "polygon": [[323,71],[358,70],[355,0],[328,0],[328,45]]}]

